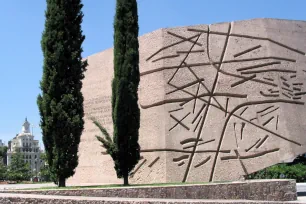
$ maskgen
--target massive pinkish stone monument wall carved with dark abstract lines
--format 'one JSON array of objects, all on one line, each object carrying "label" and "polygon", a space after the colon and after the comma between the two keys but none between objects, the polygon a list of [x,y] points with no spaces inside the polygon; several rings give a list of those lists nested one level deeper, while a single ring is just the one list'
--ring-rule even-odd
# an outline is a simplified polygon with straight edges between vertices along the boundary
[{"label": "massive pinkish stone monument wall carved with dark abstract lines", "polygon": [[[254,19],[139,38],[142,160],[133,183],[237,180],[306,152],[306,22]],[[112,131],[113,50],[88,57],[70,183],[117,183],[88,120]],[[121,181],[120,181],[121,182]]]}]

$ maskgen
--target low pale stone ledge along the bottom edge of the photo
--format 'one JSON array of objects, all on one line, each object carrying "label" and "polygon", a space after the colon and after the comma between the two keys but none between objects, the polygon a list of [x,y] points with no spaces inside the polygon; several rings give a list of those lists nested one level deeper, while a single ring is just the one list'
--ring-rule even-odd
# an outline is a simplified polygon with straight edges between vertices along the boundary
[{"label": "low pale stone ledge along the bottom edge of the photo", "polygon": [[250,200],[198,200],[198,199],[153,199],[153,198],[111,198],[111,197],[82,197],[82,196],[54,196],[34,194],[0,193],[1,204],[300,204],[300,201],[250,201]]}]

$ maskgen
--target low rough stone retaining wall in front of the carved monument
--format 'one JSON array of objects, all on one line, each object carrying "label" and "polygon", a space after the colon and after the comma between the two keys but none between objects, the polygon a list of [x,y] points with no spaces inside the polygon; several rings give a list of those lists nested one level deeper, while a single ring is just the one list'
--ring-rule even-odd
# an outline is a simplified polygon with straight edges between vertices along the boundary
[{"label": "low rough stone retaining wall in front of the carved monument", "polygon": [[167,199],[226,199],[294,201],[297,198],[294,180],[251,180],[248,182],[198,184],[159,187],[128,187],[71,190],[20,190],[9,193]]}]

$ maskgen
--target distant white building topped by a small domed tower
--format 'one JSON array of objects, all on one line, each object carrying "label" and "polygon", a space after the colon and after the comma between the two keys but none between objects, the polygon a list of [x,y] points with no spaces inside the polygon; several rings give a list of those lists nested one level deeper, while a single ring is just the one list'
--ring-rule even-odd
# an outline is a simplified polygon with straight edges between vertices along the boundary
[{"label": "distant white building topped by a small domed tower", "polygon": [[21,133],[8,142],[7,165],[10,165],[12,155],[17,152],[20,152],[24,161],[30,164],[34,174],[40,172],[40,168],[44,165],[44,161],[40,158],[42,151],[39,141],[34,139],[30,131],[30,123],[27,118],[22,125]]}]

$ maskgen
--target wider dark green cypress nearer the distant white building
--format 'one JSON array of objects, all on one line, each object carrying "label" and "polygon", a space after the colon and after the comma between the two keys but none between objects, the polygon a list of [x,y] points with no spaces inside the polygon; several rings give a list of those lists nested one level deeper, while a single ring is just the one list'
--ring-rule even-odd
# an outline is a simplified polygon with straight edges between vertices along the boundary
[{"label": "wider dark green cypress nearer the distant white building", "polygon": [[44,56],[37,103],[52,178],[60,187],[78,165],[83,131],[81,93],[87,62],[82,61],[81,0],[47,0],[41,45]]}]

